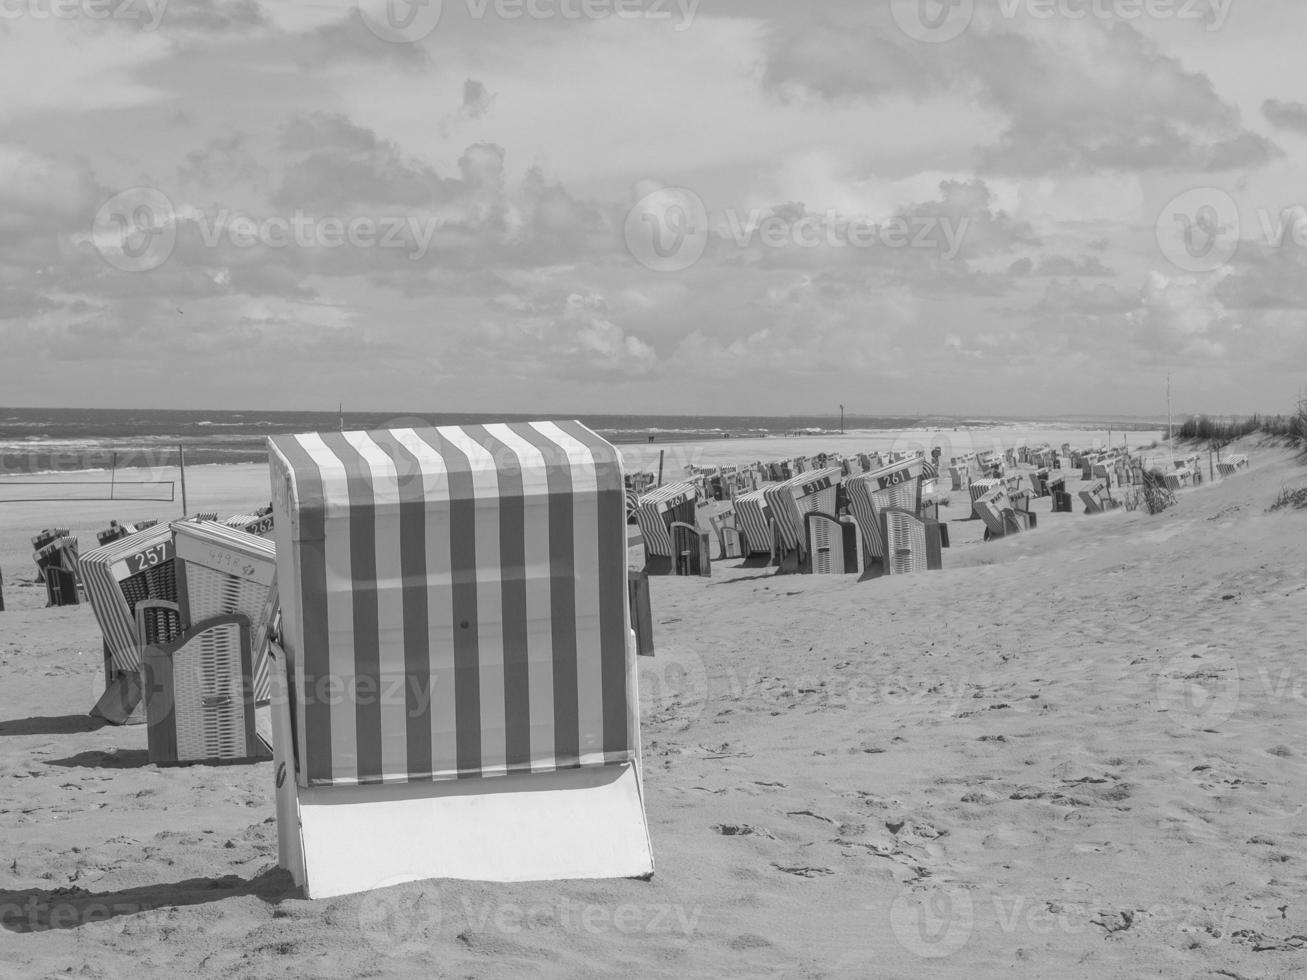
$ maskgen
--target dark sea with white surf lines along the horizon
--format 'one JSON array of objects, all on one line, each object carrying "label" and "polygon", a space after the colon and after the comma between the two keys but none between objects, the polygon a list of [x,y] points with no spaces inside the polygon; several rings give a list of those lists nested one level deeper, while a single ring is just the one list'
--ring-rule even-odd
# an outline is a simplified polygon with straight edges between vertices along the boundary
[{"label": "dark sea with white surf lines along the horizon", "polygon": [[[281,433],[375,430],[434,425],[576,418],[612,443],[680,443],[706,439],[825,435],[840,431],[838,416],[596,416],[536,413],[218,412],[174,409],[0,408],[0,477],[125,466],[261,463],[267,438]],[[938,430],[1002,426],[1157,429],[1157,419],[992,418],[962,416],[846,416],[846,430]]]}]

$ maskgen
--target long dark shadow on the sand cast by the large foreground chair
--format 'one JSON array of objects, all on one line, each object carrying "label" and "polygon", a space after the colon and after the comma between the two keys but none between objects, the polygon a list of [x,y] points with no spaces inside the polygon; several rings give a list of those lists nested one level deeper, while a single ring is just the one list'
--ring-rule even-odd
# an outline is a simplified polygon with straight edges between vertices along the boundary
[{"label": "long dark shadow on the sand cast by the large foreground chair", "polygon": [[284,899],[297,898],[299,889],[288,872],[276,868],[254,878],[226,874],[220,878],[142,885],[120,891],[86,891],[78,887],[0,890],[0,928],[12,933],[78,929],[89,923],[154,908],[203,906],[246,895],[274,906]]}]

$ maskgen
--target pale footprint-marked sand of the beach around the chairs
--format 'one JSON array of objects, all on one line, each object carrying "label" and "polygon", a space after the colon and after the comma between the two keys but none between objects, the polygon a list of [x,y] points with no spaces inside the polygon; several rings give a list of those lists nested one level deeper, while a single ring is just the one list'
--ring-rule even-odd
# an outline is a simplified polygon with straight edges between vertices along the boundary
[{"label": "pale footprint-marked sand of the beach around the chairs", "polygon": [[1307,469],[1240,449],[1162,515],[1046,499],[989,544],[953,494],[942,572],[656,579],[651,882],[323,902],[276,868],[271,763],[93,727],[90,609],[22,583],[41,527],[149,506],[5,504],[0,976],[1304,976],[1307,515],[1265,511]]}]

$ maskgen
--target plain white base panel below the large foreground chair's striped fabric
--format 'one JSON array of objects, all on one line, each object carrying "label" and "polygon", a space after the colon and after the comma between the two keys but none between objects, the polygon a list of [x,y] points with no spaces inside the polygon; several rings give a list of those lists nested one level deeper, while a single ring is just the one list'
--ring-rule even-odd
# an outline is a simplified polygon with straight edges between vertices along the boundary
[{"label": "plain white base panel below the large foreground chair's striped fabric", "polygon": [[439,783],[295,783],[281,662],[272,682],[277,855],[310,899],[405,881],[654,873],[639,763]]}]

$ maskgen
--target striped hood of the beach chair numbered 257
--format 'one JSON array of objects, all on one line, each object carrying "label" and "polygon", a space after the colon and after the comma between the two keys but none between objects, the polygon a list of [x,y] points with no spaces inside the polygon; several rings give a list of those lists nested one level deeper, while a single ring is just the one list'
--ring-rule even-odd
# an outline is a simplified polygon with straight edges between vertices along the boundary
[{"label": "striped hood of the beach chair numbered 257", "polygon": [[119,670],[135,672],[141,666],[136,604],[142,598],[173,600],[176,596],[174,554],[173,529],[156,524],[110,541],[78,559],[86,597]]}]

